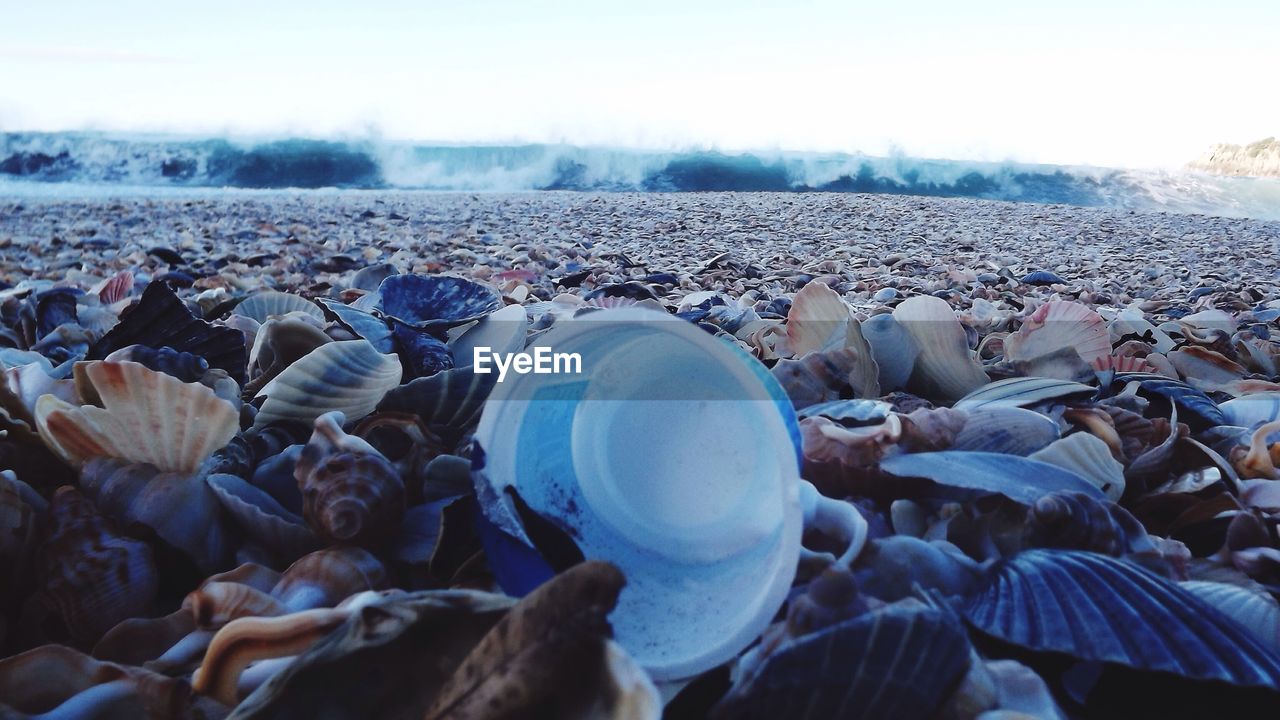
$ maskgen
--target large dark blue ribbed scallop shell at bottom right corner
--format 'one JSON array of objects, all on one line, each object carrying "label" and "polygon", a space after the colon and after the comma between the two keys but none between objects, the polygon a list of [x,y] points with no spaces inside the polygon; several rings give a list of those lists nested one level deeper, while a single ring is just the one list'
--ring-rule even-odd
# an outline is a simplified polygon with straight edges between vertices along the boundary
[{"label": "large dark blue ribbed scallop shell at bottom right corner", "polygon": [[982,633],[1038,652],[1233,685],[1280,687],[1280,657],[1212,606],[1130,562],[1032,550],[964,607]]}]

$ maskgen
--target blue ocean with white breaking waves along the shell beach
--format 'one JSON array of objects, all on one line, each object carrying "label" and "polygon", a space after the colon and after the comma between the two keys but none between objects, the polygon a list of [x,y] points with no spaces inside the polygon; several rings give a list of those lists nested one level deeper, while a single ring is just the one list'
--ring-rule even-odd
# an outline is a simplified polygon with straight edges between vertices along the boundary
[{"label": "blue ocean with white breaking waves along the shell beach", "polygon": [[0,195],[223,188],[869,192],[1280,219],[1280,179],[1189,170],[841,152],[0,133]]}]

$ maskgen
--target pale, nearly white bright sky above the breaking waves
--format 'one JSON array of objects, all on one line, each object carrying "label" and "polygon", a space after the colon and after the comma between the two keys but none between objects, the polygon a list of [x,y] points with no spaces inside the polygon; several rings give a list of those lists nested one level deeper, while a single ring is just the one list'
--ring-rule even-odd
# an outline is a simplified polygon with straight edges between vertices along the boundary
[{"label": "pale, nearly white bright sky above the breaking waves", "polygon": [[1275,0],[0,0],[0,131],[1179,167],[1280,136]]}]

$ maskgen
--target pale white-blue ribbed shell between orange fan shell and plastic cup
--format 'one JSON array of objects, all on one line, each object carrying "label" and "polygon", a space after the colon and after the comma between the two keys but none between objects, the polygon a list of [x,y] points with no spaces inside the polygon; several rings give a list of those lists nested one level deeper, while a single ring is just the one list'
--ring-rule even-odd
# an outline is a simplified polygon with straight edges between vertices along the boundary
[{"label": "pale white-blue ribbed shell between orange fan shell and plastic cup", "polygon": [[253,428],[280,420],[314,423],[333,410],[347,418],[364,418],[399,379],[399,360],[378,352],[367,341],[321,345],[259,391],[257,397],[265,396],[266,401],[253,419]]}]

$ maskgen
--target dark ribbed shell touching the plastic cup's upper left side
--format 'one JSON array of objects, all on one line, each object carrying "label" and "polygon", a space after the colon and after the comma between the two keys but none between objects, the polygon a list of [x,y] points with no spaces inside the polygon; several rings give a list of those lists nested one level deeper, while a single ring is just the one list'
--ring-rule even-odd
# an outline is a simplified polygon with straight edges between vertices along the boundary
[{"label": "dark ribbed shell touching the plastic cup's upper left side", "polygon": [[392,388],[378,411],[417,415],[433,433],[456,438],[476,421],[497,382],[497,373],[453,368]]}]

